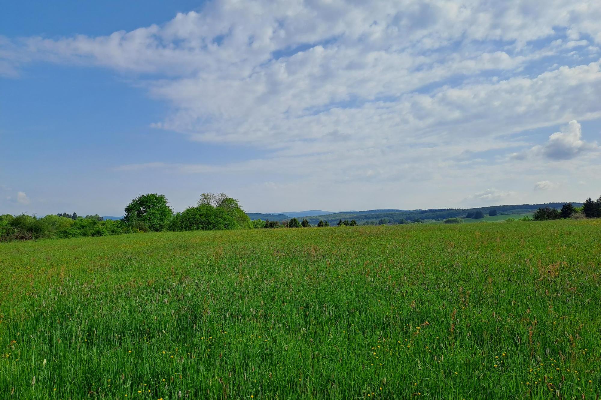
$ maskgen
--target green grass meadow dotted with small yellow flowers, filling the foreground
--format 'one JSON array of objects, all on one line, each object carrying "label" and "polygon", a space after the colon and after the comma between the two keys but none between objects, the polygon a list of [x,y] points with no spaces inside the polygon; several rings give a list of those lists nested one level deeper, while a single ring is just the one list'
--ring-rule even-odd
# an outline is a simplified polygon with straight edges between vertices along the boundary
[{"label": "green grass meadow dotted with small yellow flowers, filling the foreground", "polygon": [[564,220],[0,244],[0,399],[595,399],[600,243]]}]

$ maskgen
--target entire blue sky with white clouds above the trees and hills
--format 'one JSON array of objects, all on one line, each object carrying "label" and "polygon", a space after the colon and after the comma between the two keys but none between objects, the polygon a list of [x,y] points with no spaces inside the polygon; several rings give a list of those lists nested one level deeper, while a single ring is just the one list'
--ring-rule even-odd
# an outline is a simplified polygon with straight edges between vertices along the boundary
[{"label": "entire blue sky with white clouds above the trees and hills", "polygon": [[598,0],[8,2],[0,214],[596,198],[600,20]]}]

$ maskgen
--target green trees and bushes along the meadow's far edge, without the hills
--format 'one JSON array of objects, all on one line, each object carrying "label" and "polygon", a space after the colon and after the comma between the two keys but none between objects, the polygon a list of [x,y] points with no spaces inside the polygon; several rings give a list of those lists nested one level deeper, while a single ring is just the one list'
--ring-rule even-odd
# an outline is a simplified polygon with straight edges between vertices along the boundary
[{"label": "green trees and bushes along the meadow's far edge, without the hills", "polygon": [[[489,216],[498,214],[496,208],[488,208]],[[484,213],[480,210],[470,211],[466,214],[466,218],[481,219],[483,217]],[[574,207],[572,203],[563,204],[559,210],[548,206],[540,207],[535,211],[533,219],[553,220],[570,217],[601,217],[601,196],[596,201],[588,198],[582,207]],[[415,219],[412,222],[417,223],[422,220]],[[461,220],[457,217],[448,218],[445,221],[445,223],[460,222]],[[380,219],[378,223],[384,225],[389,223],[389,220],[388,218]],[[402,219],[398,223],[409,222]],[[327,220],[320,219],[315,226],[322,228],[329,225]],[[337,225],[357,226],[358,223],[355,219],[340,219]],[[50,214],[39,218],[27,214],[0,215],[0,241],[108,236],[132,232],[307,228],[310,226],[311,223],[307,218],[302,221],[296,217],[282,221],[251,220],[242,210],[239,202],[225,193],[202,193],[195,206],[178,213],[173,213],[165,195],[147,193],[132,199],[127,204],[121,220],[104,220],[98,214],[82,217],[76,213]]]}]

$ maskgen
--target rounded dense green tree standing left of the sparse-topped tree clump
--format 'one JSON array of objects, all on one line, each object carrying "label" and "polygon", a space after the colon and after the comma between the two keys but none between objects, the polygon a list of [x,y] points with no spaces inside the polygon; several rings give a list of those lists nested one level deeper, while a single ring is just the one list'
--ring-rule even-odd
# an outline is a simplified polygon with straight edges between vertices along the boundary
[{"label": "rounded dense green tree standing left of the sparse-topped tree clump", "polygon": [[133,199],[125,208],[123,222],[129,225],[143,223],[151,231],[162,231],[172,215],[165,195],[148,193]]}]

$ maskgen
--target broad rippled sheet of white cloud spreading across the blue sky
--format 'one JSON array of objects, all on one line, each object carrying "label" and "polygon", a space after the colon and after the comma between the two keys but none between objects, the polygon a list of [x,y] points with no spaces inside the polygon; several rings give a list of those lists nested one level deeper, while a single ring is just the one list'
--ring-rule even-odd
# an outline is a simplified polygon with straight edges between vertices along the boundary
[{"label": "broad rippled sheet of white cloud spreading across the blue sky", "polygon": [[[545,162],[584,162],[597,148],[576,120],[601,118],[599,20],[598,0],[216,0],[107,36],[0,38],[0,73],[109,68],[168,103],[152,127],[260,149],[229,163],[138,158],[122,174],[258,175],[257,187],[324,184],[332,196],[349,182],[382,192],[466,177],[473,186],[457,187],[470,193],[511,188],[511,176],[532,193]],[[571,120],[545,143],[516,138]],[[516,196],[488,189],[468,201]]]}]

